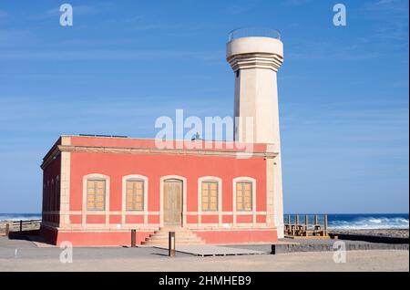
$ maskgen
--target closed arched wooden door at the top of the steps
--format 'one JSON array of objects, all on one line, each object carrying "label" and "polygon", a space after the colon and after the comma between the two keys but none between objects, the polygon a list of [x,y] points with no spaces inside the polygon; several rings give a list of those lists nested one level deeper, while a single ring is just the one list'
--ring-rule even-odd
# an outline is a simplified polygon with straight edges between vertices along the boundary
[{"label": "closed arched wooden door at the top of the steps", "polygon": [[164,181],[164,225],[182,225],[182,181]]}]

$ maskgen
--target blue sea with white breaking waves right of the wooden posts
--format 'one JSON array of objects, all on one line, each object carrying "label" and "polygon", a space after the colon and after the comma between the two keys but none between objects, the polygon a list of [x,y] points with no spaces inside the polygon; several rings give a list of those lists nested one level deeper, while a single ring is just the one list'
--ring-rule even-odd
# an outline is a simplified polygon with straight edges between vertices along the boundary
[{"label": "blue sea with white breaking waves right of the wooden posts", "polygon": [[401,217],[361,217],[354,221],[335,220],[329,223],[330,229],[340,230],[374,230],[374,229],[408,229],[408,219]]}]

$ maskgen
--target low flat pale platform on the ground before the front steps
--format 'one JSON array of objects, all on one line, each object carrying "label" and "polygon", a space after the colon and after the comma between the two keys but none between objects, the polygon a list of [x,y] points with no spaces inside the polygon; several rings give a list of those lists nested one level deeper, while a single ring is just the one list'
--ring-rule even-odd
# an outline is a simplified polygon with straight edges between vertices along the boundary
[{"label": "low flat pale platform on the ground before the front steps", "polygon": [[[156,246],[156,248],[167,249],[168,247]],[[184,254],[193,254],[197,256],[217,256],[217,255],[241,255],[241,254],[270,254],[271,251],[259,251],[243,248],[234,248],[210,244],[195,244],[195,245],[177,245],[176,252]]]}]

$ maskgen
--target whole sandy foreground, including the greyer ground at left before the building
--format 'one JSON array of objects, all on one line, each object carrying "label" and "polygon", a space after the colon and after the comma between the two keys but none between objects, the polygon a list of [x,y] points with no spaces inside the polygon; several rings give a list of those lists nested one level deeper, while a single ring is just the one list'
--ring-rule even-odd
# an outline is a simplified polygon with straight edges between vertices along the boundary
[{"label": "whole sandy foreground, including the greyer ground at left before the building", "polygon": [[157,248],[74,248],[73,263],[60,262],[58,247],[39,248],[28,241],[0,238],[2,271],[409,271],[406,250],[346,252],[346,263],[333,252],[170,258]]}]

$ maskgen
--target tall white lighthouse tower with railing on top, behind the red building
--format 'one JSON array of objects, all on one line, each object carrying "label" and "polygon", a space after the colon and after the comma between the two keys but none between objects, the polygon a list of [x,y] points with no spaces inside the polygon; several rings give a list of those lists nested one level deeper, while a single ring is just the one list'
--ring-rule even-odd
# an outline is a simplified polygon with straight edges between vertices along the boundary
[{"label": "tall white lighthouse tower with railing on top, behind the red building", "polygon": [[229,36],[226,58],[235,73],[235,140],[267,143],[277,154],[273,160],[266,160],[267,224],[277,228],[281,238],[283,202],[277,72],[283,61],[283,44],[279,32],[266,28],[234,30]]}]

